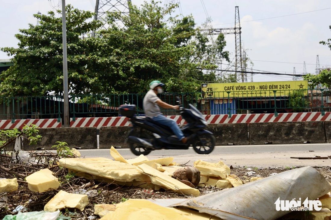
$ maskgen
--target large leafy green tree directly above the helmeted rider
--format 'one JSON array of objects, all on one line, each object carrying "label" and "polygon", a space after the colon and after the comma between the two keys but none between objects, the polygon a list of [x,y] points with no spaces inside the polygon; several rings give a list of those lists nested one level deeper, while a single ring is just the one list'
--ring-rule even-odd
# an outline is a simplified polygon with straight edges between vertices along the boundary
[{"label": "large leafy green tree directly above the helmeted rider", "polygon": [[[111,56],[117,61],[118,79],[111,87],[116,91],[146,92],[151,80],[166,83],[168,92],[198,91],[201,81],[216,79],[213,72],[201,70],[216,67],[211,57],[228,59],[223,35],[216,44],[209,44],[194,28],[191,16],[171,17],[178,5],[160,7],[159,3],[145,2],[140,9],[130,5],[129,16],[109,14],[112,27],[101,34],[109,45],[115,45]],[[124,27],[118,28],[115,20]]]}]

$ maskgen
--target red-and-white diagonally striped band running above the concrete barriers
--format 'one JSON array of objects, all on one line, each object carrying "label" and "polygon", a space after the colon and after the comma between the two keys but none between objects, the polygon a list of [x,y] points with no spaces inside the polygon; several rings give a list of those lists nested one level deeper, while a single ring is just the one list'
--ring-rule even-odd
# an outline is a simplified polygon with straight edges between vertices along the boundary
[{"label": "red-and-white diagonally striped band running above the concrete barriers", "polygon": [[[279,113],[274,114],[239,114],[239,115],[204,115],[209,124],[229,124],[229,123],[265,123],[265,122],[311,122],[311,121],[331,121],[331,112],[305,112],[305,113]],[[174,119],[178,125],[185,125],[186,121],[181,116],[167,116]],[[23,128],[24,125],[34,124],[40,128],[60,128],[61,123],[57,119],[26,119],[1,120],[0,129]],[[70,122],[70,127],[119,127],[130,126],[130,121],[126,117],[104,117],[104,118],[76,118]]]}]

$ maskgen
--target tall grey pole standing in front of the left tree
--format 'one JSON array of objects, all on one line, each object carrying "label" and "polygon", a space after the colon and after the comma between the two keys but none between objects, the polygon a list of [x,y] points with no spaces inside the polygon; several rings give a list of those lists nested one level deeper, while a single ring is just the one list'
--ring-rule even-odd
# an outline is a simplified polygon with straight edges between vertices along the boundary
[{"label": "tall grey pole standing in front of the left tree", "polygon": [[62,0],[62,43],[63,43],[63,127],[69,124],[69,92],[68,92],[68,63],[67,63],[67,27],[66,0]]}]

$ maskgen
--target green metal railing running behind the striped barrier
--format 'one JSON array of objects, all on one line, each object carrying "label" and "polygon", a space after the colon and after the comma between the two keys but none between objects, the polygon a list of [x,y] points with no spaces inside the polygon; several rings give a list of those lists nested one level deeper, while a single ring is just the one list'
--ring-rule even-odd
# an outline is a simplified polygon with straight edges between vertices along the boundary
[{"label": "green metal railing running behind the striped barrier", "polygon": [[[254,93],[256,92],[256,93]],[[284,94],[279,96],[277,94]],[[263,95],[265,94],[265,95]],[[271,95],[274,94],[274,95]],[[144,115],[143,97],[139,94],[71,95],[69,97],[70,117],[115,117],[120,116],[118,107],[122,104],[137,106],[137,115]],[[325,111],[331,109],[331,90],[270,90],[243,92],[203,92],[162,93],[159,97],[172,105],[177,105],[176,96],[183,100],[184,107],[192,104],[203,114],[247,114]],[[165,115],[178,115],[175,110],[162,109]],[[62,96],[0,97],[0,120],[63,118]]]}]

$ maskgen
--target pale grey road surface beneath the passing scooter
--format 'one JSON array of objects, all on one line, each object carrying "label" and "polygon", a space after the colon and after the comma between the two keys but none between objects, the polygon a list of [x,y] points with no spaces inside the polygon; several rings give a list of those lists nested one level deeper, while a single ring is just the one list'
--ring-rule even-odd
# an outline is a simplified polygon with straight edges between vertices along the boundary
[{"label": "pale grey road surface beneath the passing scooter", "polygon": [[[157,150],[147,155],[149,160],[173,157],[179,164],[193,165],[196,160],[204,160],[211,163],[223,161],[230,166],[248,167],[292,167],[292,166],[331,166],[331,159],[293,159],[291,157],[328,157],[331,156],[331,144],[287,144],[287,145],[229,145],[216,146],[209,155],[199,155],[193,148],[188,150]],[[117,148],[125,159],[136,156],[128,148]],[[79,150],[86,158],[106,157],[113,159],[110,149],[86,149]]]}]

